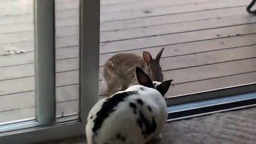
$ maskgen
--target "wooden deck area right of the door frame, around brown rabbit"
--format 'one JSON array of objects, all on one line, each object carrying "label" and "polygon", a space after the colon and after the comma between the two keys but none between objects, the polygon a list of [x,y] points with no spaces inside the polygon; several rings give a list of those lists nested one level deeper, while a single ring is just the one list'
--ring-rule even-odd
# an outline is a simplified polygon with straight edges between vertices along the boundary
[{"label": "wooden deck area right of the door frame, around brown rabbit", "polygon": [[106,95],[103,66],[111,56],[147,51],[155,58],[163,47],[163,80],[174,80],[166,97],[256,82],[256,17],[248,4],[102,0],[99,94]]}]

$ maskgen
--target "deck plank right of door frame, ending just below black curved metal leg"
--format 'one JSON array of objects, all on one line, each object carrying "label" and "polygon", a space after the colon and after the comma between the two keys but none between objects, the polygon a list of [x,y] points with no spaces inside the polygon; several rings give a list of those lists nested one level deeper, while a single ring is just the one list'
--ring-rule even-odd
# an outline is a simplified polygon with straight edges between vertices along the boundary
[{"label": "deck plank right of door frame, ending just below black curved metal leg", "polygon": [[[141,37],[153,37],[154,35],[174,34],[177,32],[198,31],[201,29],[213,29],[234,25],[256,23],[255,19],[249,19],[246,15],[222,17],[208,20],[197,20],[184,23],[171,23],[168,25],[145,26],[143,28],[122,29],[100,33],[100,41],[128,40]],[[207,23],[207,25],[206,25]]]}]

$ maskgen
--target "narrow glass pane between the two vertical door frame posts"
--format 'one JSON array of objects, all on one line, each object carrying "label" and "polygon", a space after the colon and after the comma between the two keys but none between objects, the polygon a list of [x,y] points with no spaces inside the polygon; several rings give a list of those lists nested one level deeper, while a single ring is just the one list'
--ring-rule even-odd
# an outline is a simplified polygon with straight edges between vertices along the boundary
[{"label": "narrow glass pane between the two vertical door frame posts", "polygon": [[55,19],[56,116],[59,117],[78,113],[79,1],[55,0]]}]

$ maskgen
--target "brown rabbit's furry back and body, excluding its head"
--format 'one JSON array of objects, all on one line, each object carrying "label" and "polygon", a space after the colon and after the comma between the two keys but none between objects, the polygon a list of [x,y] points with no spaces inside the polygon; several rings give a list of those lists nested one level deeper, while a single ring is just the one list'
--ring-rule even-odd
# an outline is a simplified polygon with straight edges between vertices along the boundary
[{"label": "brown rabbit's furry back and body, excluding its head", "polygon": [[135,77],[135,67],[142,68],[145,73],[148,65],[141,56],[133,53],[118,53],[108,59],[105,64],[103,75],[108,85],[108,95],[114,94],[115,90],[127,89],[130,85],[138,84]]}]

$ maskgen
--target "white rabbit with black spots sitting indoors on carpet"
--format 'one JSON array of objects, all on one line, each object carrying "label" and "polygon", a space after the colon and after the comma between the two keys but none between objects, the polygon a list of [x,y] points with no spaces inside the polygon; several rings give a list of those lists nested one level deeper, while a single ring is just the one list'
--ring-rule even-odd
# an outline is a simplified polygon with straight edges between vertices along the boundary
[{"label": "white rabbit with black spots sitting indoors on carpet", "polygon": [[98,101],[88,115],[88,144],[144,144],[160,139],[167,119],[165,93],[172,80],[152,82],[136,67],[140,85]]}]

